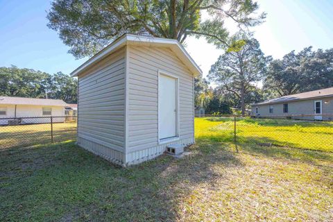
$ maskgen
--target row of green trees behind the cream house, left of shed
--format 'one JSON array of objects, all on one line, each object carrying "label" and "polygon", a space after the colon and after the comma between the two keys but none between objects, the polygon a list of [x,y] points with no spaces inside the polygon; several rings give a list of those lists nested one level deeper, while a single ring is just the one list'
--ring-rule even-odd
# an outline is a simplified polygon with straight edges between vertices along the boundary
[{"label": "row of green trees behind the cream house, left of shed", "polygon": [[77,80],[58,72],[47,74],[15,66],[0,67],[0,96],[62,99],[77,102]]}]

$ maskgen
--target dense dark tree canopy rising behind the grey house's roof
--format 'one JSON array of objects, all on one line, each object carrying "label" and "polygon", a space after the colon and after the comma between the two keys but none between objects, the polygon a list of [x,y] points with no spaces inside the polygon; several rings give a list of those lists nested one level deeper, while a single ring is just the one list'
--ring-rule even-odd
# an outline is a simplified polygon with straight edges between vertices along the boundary
[{"label": "dense dark tree canopy rising behind the grey house's roof", "polygon": [[291,51],[281,60],[273,60],[264,78],[264,89],[271,97],[287,96],[333,86],[333,49],[299,53]]}]

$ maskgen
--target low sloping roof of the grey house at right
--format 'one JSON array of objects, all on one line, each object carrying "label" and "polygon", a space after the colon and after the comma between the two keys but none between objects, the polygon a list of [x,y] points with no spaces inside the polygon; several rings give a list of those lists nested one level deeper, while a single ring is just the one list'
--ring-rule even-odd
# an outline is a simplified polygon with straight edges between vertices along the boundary
[{"label": "low sloping roof of the grey house at right", "polygon": [[326,88],[326,89],[318,89],[318,90],[309,91],[309,92],[302,92],[299,94],[293,94],[293,95],[289,95],[289,96],[282,96],[279,98],[264,101],[262,103],[255,103],[253,105],[284,103],[284,102],[289,102],[289,101],[315,99],[315,98],[321,98],[321,97],[327,97],[327,96],[333,96],[333,87]]}]

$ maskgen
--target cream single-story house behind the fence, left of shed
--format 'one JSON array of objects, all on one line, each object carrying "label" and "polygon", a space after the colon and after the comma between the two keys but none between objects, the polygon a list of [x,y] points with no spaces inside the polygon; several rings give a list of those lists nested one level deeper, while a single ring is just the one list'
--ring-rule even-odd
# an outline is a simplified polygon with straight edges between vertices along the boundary
[{"label": "cream single-story house behind the fence, left of shed", "polygon": [[[61,99],[34,99],[14,96],[0,96],[0,125],[7,125],[8,119],[21,119],[24,123],[49,123],[49,117],[65,116],[67,103]],[[44,117],[28,118],[23,117]],[[54,118],[54,122],[63,122],[64,118]]]}]

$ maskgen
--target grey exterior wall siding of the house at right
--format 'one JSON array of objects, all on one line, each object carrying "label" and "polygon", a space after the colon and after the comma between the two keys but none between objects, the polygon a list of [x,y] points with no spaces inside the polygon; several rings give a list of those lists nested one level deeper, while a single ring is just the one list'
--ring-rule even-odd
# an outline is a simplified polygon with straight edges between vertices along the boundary
[{"label": "grey exterior wall siding of the house at right", "polygon": [[[288,113],[283,112],[284,103],[273,104],[273,113],[269,113],[269,105],[253,105],[252,114],[255,115],[255,108],[258,107],[258,114],[261,116],[281,116],[281,115],[301,115],[301,114],[314,114],[314,101],[322,101],[323,114],[333,115],[333,96],[320,99],[308,99],[302,101],[291,101],[288,103]],[[325,104],[325,101],[328,101]],[[332,117],[331,117],[332,118]],[[307,117],[302,119],[314,119],[313,117]],[[323,117],[324,120],[328,120],[329,117]]]}]

